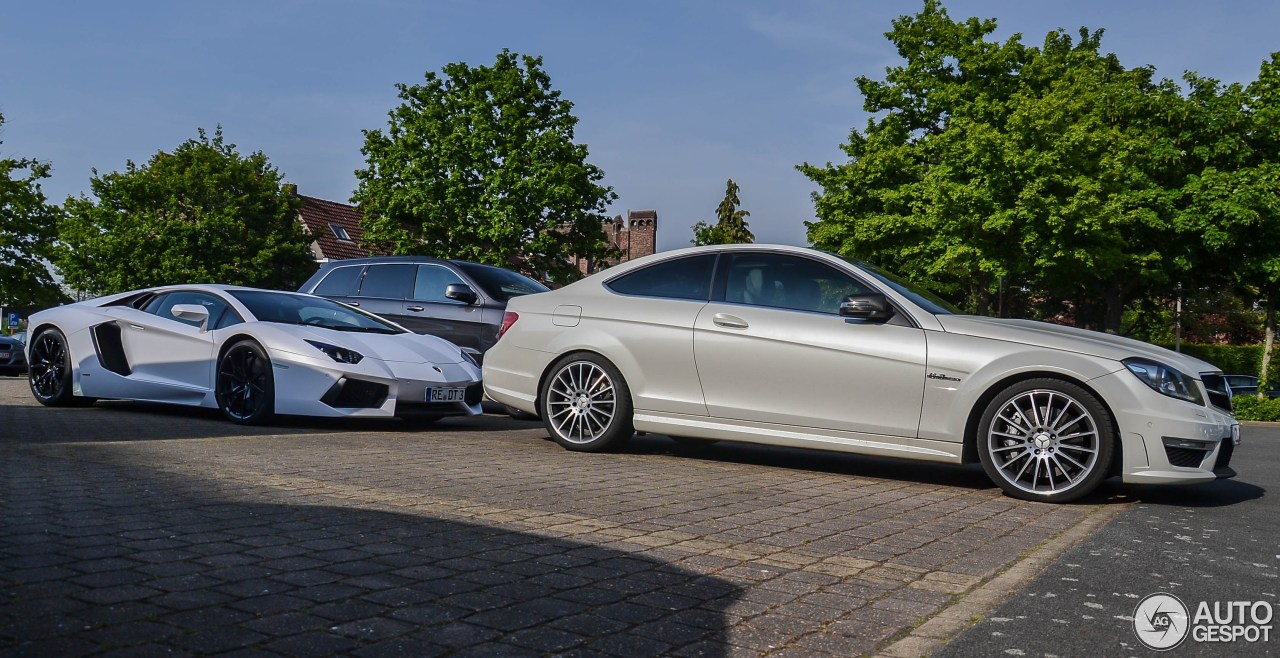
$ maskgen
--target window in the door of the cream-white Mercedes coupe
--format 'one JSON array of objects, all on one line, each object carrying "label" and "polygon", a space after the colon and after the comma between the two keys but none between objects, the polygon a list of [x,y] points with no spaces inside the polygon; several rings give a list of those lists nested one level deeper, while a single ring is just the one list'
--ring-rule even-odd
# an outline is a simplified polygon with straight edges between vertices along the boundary
[{"label": "window in the door of the cream-white Mercedes coupe", "polygon": [[870,288],[827,264],[786,253],[735,253],[724,301],[838,314],[840,302]]}]

